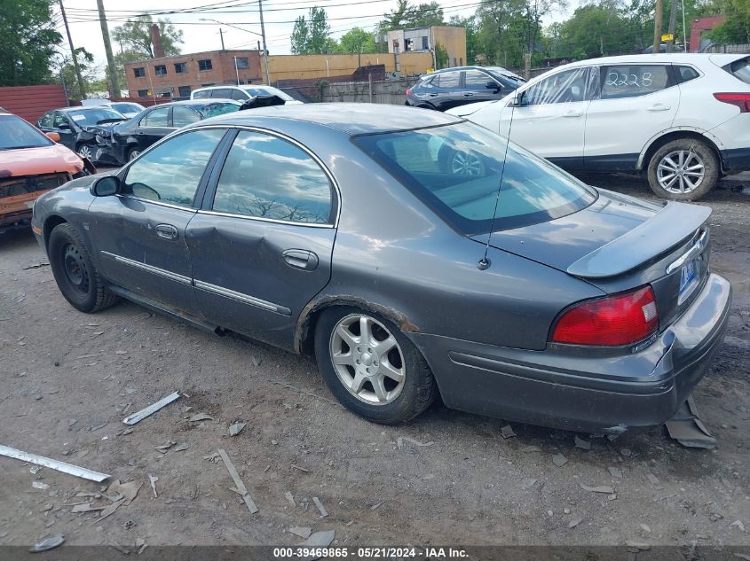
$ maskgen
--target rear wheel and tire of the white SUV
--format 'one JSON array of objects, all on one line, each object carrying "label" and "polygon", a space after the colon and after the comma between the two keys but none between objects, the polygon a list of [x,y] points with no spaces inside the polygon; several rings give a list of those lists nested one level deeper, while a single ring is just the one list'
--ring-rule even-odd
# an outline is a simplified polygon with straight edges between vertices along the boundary
[{"label": "rear wheel and tire of the white SUV", "polygon": [[662,199],[696,200],[716,186],[721,165],[706,142],[685,136],[667,142],[649,161],[651,191]]}]

